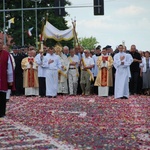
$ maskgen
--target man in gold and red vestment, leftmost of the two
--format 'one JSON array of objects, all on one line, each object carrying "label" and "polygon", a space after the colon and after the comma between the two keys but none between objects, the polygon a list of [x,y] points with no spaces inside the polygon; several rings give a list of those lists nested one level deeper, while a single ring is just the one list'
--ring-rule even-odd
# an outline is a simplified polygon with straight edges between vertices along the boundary
[{"label": "man in gold and red vestment, leftmost of the two", "polygon": [[39,95],[39,83],[37,75],[37,63],[35,61],[36,52],[34,50],[28,51],[28,57],[21,62],[23,69],[23,85],[25,88],[25,95],[35,96]]}]

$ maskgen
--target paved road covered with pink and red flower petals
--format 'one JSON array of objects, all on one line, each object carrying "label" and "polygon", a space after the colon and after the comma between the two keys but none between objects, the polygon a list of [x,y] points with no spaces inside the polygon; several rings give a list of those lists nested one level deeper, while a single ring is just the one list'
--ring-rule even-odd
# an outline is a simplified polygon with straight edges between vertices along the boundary
[{"label": "paved road covered with pink and red flower petals", "polygon": [[11,97],[0,150],[149,150],[150,97]]}]

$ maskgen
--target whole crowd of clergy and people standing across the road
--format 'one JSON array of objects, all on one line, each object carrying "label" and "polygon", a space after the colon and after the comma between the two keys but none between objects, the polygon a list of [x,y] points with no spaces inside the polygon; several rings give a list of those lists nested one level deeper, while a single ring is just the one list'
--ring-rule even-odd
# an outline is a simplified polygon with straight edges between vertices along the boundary
[{"label": "whole crowd of clergy and people standing across the road", "polygon": [[[58,94],[150,95],[150,53],[119,45],[97,46],[13,46],[0,39],[0,117],[5,116],[9,95],[56,98]],[[5,100],[6,99],[6,100]]]}]

